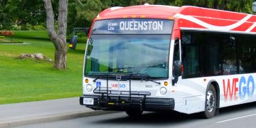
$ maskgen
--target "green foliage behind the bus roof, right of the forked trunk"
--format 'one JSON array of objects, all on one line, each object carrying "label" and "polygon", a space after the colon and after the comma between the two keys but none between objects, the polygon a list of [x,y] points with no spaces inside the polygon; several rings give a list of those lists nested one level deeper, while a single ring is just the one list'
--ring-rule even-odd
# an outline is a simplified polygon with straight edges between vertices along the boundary
[{"label": "green foliage behind the bus roof, right of the forked trunk", "polygon": [[[93,18],[95,18],[100,11],[110,6],[133,6],[145,3],[171,6],[187,5],[252,14],[251,5],[253,0],[81,0],[81,2],[82,5],[78,4],[77,1],[70,1],[71,4],[69,8],[72,8],[74,11],[69,11],[68,31],[72,31],[74,27],[90,26]],[[70,18],[70,16],[72,16],[72,18]]]}]

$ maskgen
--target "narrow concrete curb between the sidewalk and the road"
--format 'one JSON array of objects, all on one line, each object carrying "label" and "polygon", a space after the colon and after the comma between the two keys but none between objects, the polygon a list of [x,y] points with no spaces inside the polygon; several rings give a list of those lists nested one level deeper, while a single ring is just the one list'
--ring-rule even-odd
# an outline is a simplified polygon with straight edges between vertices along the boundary
[{"label": "narrow concrete curb between the sidewalk and the road", "polygon": [[111,114],[117,111],[92,111],[92,112],[71,112],[66,114],[55,114],[55,115],[48,115],[43,117],[32,117],[27,119],[16,119],[7,122],[0,122],[0,127],[18,127],[28,124],[38,124],[38,123],[45,123],[45,122],[57,122],[60,120],[67,120],[67,119],[76,119],[81,117],[90,117],[100,114]]}]

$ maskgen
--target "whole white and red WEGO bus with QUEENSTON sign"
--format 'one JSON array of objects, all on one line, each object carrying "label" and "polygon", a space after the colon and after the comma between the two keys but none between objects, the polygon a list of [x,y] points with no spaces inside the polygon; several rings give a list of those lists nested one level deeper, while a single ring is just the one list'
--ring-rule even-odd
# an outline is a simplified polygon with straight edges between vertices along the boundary
[{"label": "whole white and red WEGO bus with QUEENSTON sign", "polygon": [[256,16],[196,6],[113,7],[92,23],[80,104],[201,112],[256,100]]}]

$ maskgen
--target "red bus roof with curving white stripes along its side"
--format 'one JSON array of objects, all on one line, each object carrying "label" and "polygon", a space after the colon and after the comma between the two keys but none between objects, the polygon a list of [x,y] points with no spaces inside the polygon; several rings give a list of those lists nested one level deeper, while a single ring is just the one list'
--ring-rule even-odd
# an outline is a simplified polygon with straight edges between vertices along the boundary
[{"label": "red bus roof with curving white stripes along its side", "polygon": [[255,15],[196,6],[176,7],[144,4],[112,7],[102,11],[95,20],[107,18],[174,19],[176,21],[174,29],[256,34]]}]

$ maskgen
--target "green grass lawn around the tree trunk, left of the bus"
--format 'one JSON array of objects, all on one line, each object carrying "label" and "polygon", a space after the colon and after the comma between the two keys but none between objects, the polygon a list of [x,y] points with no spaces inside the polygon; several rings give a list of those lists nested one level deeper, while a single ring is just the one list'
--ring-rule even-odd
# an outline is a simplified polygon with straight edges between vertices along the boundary
[{"label": "green grass lawn around the tree trunk, left of the bus", "polygon": [[46,31],[14,31],[14,35],[16,41],[31,44],[0,44],[0,104],[82,95],[85,43],[68,50],[67,70],[55,70],[46,60],[17,59],[21,53],[43,53],[54,60]]}]

